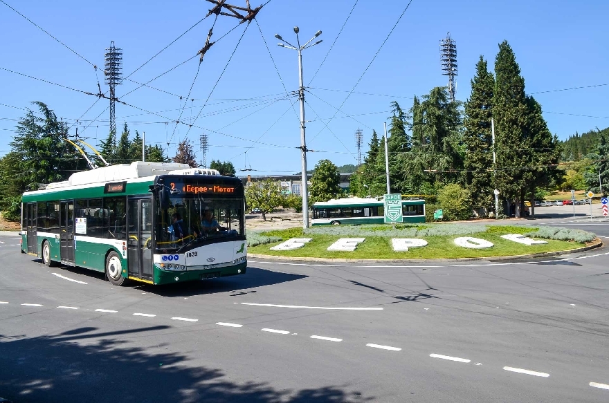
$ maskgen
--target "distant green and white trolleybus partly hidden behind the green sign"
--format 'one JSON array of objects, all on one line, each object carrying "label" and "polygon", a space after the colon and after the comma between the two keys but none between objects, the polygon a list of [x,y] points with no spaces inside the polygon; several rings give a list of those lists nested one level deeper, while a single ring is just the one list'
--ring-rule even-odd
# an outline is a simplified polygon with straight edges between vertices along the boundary
[{"label": "distant green and white trolleybus partly hidden behind the green sign", "polygon": [[[375,198],[339,198],[313,204],[311,225],[382,224],[383,200]],[[402,200],[403,223],[425,223],[425,200]]]}]

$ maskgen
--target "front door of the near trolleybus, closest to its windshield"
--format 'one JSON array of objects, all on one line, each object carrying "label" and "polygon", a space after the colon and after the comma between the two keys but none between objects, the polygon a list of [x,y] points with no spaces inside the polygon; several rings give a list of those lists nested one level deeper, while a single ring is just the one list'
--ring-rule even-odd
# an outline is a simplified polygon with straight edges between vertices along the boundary
[{"label": "front door of the near trolleybus, closest to its windshield", "polygon": [[127,206],[129,277],[152,280],[152,198],[129,198]]}]

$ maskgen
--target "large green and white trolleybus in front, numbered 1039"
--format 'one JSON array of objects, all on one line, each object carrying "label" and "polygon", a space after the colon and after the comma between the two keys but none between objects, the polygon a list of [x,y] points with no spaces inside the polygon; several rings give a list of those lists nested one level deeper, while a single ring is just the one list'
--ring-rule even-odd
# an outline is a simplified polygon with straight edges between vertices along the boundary
[{"label": "large green and white trolleybus in front, numbered 1039", "polygon": [[244,274],[244,209],[241,180],[212,169],[111,165],[24,193],[21,252],[105,272],[114,285]]}]

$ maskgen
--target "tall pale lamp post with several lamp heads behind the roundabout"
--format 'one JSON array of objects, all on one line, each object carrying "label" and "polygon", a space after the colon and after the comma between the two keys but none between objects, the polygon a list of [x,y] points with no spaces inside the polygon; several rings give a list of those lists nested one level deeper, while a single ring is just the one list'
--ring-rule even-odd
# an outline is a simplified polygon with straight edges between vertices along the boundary
[{"label": "tall pale lamp post with several lamp heads behind the roundabout", "polygon": [[[311,41],[321,35],[321,31],[317,31],[315,36],[309,39],[306,44],[300,46],[300,39],[298,38],[298,27],[294,27],[294,33],[296,33],[296,43],[298,46],[294,46],[290,44],[288,41],[284,40],[279,34],[275,34],[275,38],[282,41],[282,44],[278,44],[282,48],[288,48],[298,51],[298,77],[300,82],[300,87],[298,88],[298,99],[300,100],[300,153],[302,156],[302,185],[300,185],[301,193],[302,193],[302,227],[309,227],[309,193],[307,190],[307,141],[305,139],[305,84],[302,79],[302,50],[306,48],[310,48],[311,46],[315,46],[319,44],[322,40],[316,41],[314,44],[311,44]],[[311,45],[309,45],[311,44]]]}]

